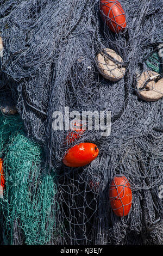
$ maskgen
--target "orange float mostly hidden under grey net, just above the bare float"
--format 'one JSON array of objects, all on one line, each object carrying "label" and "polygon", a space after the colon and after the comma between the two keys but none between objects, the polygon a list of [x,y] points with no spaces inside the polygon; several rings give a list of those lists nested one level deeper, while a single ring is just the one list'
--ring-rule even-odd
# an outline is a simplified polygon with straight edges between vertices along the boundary
[{"label": "orange float mostly hidden under grey net, just above the bare float", "polygon": [[85,127],[82,126],[80,121],[76,121],[71,128],[71,131],[68,133],[66,142],[70,144],[75,139],[78,139],[85,132]]}]

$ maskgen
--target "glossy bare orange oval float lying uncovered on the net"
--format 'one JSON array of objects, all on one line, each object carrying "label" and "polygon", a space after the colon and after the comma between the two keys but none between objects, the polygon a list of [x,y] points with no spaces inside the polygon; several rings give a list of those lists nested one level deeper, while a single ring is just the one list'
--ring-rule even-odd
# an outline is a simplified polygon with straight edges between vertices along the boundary
[{"label": "glossy bare orange oval float lying uncovered on the net", "polygon": [[98,151],[97,146],[93,143],[79,143],[68,149],[62,161],[69,167],[82,167],[96,159]]}]

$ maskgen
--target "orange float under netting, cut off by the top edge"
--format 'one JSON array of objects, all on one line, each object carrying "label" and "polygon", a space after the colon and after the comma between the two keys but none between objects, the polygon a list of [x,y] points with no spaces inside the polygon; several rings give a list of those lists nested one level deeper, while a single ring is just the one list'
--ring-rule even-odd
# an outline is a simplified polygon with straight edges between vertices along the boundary
[{"label": "orange float under netting, cut off by the top edge", "polygon": [[126,15],[119,1],[100,0],[100,13],[112,32],[120,33],[126,28]]}]

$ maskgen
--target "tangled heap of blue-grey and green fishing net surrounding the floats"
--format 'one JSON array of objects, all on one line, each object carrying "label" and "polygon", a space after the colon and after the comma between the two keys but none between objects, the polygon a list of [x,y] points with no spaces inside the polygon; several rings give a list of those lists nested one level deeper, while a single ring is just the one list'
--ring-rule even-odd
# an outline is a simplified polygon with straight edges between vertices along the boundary
[{"label": "tangled heap of blue-grey and green fishing net surrounding the floats", "polygon": [[[163,3],[120,2],[127,28],[112,33],[98,0],[1,1],[1,95],[15,102],[26,131],[16,125],[8,139],[3,136],[9,128],[3,124],[1,129],[6,243],[13,237],[19,244],[162,243],[162,99],[140,99],[136,81],[145,71],[162,74]],[[97,66],[96,56],[106,48],[121,56],[126,69],[116,82],[106,80]],[[110,136],[86,130],[68,143],[68,130],[53,129],[53,113],[64,115],[65,107],[79,113],[111,111]],[[95,143],[98,157],[82,168],[64,166],[66,150],[80,142]],[[47,166],[52,172],[45,171]],[[109,204],[109,185],[118,175],[127,177],[133,193],[129,215],[122,218]]]}]

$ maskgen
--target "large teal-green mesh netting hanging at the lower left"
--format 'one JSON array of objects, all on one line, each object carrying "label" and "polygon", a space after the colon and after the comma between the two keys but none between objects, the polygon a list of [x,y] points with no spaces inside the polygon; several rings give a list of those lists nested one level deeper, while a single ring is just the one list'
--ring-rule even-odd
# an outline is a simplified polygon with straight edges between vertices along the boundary
[{"label": "large teal-green mesh netting hanging at the lower left", "polygon": [[18,115],[0,114],[0,124],[5,174],[1,241],[6,245],[55,244],[56,175],[45,168],[42,148],[26,137]]}]

